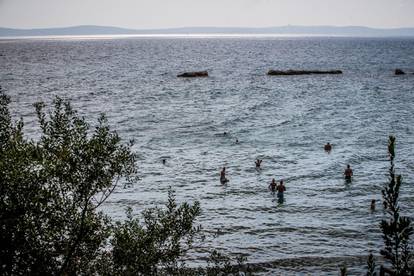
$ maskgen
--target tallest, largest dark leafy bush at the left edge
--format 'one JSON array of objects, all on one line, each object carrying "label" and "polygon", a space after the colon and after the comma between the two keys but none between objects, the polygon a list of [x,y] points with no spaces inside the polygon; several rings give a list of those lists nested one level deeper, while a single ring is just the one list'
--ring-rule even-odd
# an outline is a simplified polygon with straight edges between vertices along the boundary
[{"label": "tallest, largest dark leafy bush at the left edge", "polygon": [[96,208],[121,177],[135,173],[135,155],[101,116],[89,125],[57,98],[48,116],[35,105],[38,141],[11,122],[0,102],[0,249],[2,274],[78,274],[102,250],[109,218]]}]

